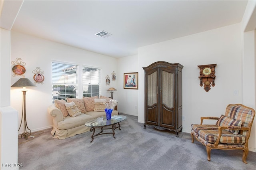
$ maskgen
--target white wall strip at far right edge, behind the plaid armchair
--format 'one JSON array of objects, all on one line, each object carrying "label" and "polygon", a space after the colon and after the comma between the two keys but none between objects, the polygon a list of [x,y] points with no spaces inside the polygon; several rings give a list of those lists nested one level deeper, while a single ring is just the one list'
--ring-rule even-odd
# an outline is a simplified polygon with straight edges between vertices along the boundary
[{"label": "white wall strip at far right edge, behind the plaid armchair", "polygon": [[[248,1],[244,16],[241,22],[243,41],[243,67],[242,67],[242,101],[247,106],[255,108],[255,80],[256,80],[256,0]],[[253,149],[252,149],[253,148]],[[256,123],[252,124],[252,131],[249,139],[249,149],[256,152]]]}]

